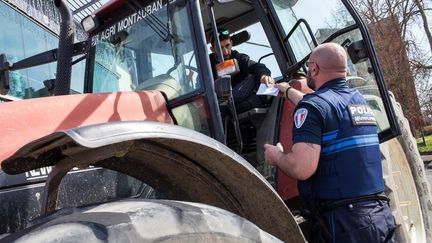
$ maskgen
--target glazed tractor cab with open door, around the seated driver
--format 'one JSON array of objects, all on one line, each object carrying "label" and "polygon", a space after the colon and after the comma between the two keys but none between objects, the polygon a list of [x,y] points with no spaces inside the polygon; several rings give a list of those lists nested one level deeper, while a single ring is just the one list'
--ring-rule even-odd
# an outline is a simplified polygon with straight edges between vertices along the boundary
[{"label": "glazed tractor cab with open door, around the seated driver", "polygon": [[[230,75],[213,77],[210,36],[228,29],[233,49],[265,64],[277,82],[307,73],[305,62],[319,43],[341,44],[349,54],[350,80],[363,81],[349,84],[382,101],[371,106],[380,117],[382,142],[398,129],[369,33],[352,8],[348,1],[332,0],[110,1],[82,22],[90,50],[86,92],[160,90],[178,125],[227,144],[276,185],[276,172],[265,168],[262,147],[281,141],[289,149],[294,106],[268,96],[265,106],[237,114]],[[313,9],[320,9],[319,14]],[[215,43],[223,63],[217,38]],[[292,86],[312,92],[299,81]],[[224,120],[221,104],[231,106]]]}]

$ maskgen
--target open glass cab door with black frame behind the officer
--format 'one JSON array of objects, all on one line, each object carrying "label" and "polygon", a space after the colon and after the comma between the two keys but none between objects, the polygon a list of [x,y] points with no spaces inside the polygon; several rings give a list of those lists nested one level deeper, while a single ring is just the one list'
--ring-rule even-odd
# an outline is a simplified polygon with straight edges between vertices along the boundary
[{"label": "open glass cab door with black frame behind the officer", "polygon": [[264,27],[267,34],[274,36],[269,38],[272,46],[281,50],[275,55],[286,79],[297,70],[307,72],[305,61],[315,46],[338,43],[349,57],[348,85],[357,88],[375,112],[380,143],[400,134],[369,31],[351,3],[263,0],[260,4],[266,6],[262,22],[269,27]]}]

